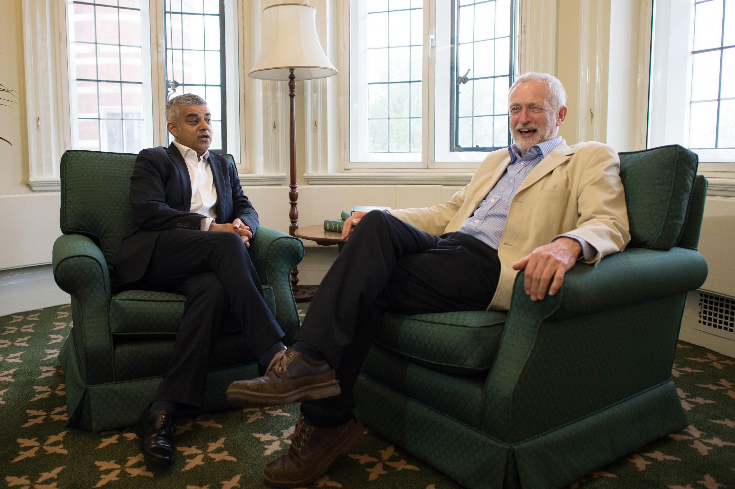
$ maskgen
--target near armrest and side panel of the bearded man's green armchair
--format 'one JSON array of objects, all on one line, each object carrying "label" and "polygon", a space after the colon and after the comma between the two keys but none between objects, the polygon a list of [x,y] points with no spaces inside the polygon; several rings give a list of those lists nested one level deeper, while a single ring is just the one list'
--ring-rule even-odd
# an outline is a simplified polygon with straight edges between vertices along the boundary
[{"label": "near armrest and side panel of the bearded man's green armchair", "polygon": [[668,382],[678,337],[670,325],[706,272],[695,250],[631,249],[596,268],[577,264],[537,302],[520,273],[487,378],[488,432],[522,441]]}]

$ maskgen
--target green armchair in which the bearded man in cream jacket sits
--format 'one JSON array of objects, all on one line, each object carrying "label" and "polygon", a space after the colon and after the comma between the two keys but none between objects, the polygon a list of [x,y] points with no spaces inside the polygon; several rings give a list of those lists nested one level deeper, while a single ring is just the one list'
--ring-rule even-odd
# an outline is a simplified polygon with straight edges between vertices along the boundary
[{"label": "green armchair in which the bearded man in cream jacket sits", "polygon": [[681,146],[620,154],[632,240],[507,312],[388,314],[354,391],[370,428],[467,488],[568,486],[686,427],[671,366],[706,179]]}]

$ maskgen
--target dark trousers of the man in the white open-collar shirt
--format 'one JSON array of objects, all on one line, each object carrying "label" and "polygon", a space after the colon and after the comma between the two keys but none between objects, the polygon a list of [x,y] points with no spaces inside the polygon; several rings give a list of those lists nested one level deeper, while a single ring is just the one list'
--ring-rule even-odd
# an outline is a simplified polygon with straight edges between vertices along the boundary
[{"label": "dark trousers of the man in the white open-collar shirt", "polygon": [[235,233],[163,231],[146,273],[123,288],[174,292],[187,298],[157,399],[196,407],[204,404],[209,355],[228,311],[240,322],[245,344],[255,358],[284,336],[263,299],[248,249]]}]

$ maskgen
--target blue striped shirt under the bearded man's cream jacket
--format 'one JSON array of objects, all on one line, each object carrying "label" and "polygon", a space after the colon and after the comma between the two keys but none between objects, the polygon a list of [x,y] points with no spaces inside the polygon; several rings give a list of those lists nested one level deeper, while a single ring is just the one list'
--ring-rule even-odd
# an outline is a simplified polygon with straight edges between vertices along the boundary
[{"label": "blue striped shirt under the bearded man's cream jacket", "polygon": [[[508,218],[508,209],[513,200],[513,196],[520,188],[523,181],[526,180],[528,173],[536,167],[548,153],[553,151],[559,143],[562,142],[561,137],[555,137],[553,140],[540,142],[528,148],[526,156],[523,158],[518,154],[516,145],[508,148],[510,153],[510,163],[503,173],[498,183],[490,189],[485,198],[482,200],[475,213],[469,219],[462,223],[459,231],[462,233],[475,236],[482,242],[487,243],[491,247],[498,249],[503,234],[503,228]],[[562,234],[557,238],[566,236],[576,239],[582,246],[584,259],[592,259],[597,250],[589,245],[584,239],[577,236],[569,236]],[[556,238],[555,238],[556,239]]]}]

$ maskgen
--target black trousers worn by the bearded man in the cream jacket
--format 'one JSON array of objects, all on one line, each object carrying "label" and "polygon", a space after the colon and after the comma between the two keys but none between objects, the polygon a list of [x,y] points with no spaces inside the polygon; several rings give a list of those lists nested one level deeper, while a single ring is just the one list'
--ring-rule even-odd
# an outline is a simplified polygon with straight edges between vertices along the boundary
[{"label": "black trousers worn by the bearded man in the cream jacket", "polygon": [[307,422],[329,427],[351,418],[352,386],[385,311],[484,311],[499,275],[498,252],[474,236],[432,236],[382,211],[362,217],[294,338],[322,352],[342,389],[302,402]]}]

